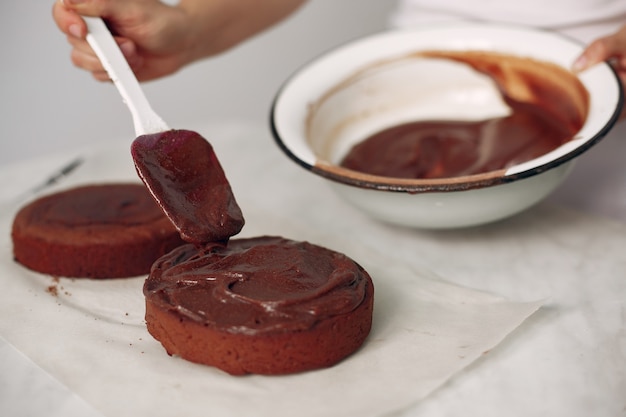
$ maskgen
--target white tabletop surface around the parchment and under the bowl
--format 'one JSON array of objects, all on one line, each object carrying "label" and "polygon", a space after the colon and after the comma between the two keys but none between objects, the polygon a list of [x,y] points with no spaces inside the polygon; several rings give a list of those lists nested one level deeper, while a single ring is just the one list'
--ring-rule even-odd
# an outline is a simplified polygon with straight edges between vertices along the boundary
[{"label": "white tabletop surface around the parchment and under the bowl", "polygon": [[[514,301],[546,300],[495,349],[401,415],[586,417],[626,409],[626,223],[553,200],[482,227],[401,229],[349,207],[324,180],[282,155],[265,126],[191,128],[216,148],[244,213],[262,207],[461,286]],[[39,170],[44,179],[67,157],[0,170],[0,204],[35,185],[20,182],[21,172]],[[250,176],[229,174],[236,171]],[[0,338],[0,415],[98,413]]]}]

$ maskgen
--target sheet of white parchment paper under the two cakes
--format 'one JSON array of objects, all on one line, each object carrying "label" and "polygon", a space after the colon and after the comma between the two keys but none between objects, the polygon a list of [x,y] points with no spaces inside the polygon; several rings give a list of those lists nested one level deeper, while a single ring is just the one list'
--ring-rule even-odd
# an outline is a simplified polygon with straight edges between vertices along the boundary
[{"label": "sheet of white parchment paper under the two cakes", "polygon": [[[223,145],[233,152],[240,146],[235,139]],[[84,156],[83,166],[50,191],[137,181],[128,143]],[[25,167],[20,172],[22,177],[11,182],[37,182]],[[0,183],[9,181],[10,172],[2,175]],[[53,279],[16,264],[9,230],[20,204],[5,202],[0,214],[0,334],[105,416],[388,415],[488,355],[541,305],[448,284],[358,239],[334,235],[332,225],[311,230],[306,218],[285,219],[248,201],[242,236],[271,231],[309,240],[363,265],[375,284],[374,326],[365,345],[335,367],[280,377],[233,377],[169,357],[148,334],[141,292],[145,277]]]}]

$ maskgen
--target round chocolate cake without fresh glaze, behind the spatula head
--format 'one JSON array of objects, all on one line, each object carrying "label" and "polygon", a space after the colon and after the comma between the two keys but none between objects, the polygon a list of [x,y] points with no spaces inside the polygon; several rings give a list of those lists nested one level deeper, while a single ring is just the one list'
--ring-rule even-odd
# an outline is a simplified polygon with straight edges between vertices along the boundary
[{"label": "round chocolate cake without fresh glaze, behind the spatula head", "polygon": [[15,260],[63,277],[148,274],[152,263],[185,243],[142,184],[72,188],[34,200],[15,216]]}]

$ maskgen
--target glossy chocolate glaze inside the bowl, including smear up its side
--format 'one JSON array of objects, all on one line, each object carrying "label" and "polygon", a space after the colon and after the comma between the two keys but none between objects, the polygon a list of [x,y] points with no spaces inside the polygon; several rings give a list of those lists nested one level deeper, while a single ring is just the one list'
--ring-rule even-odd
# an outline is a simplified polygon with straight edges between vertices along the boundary
[{"label": "glossy chocolate glaze inside the bowl, including smear up its side", "polygon": [[[458,60],[492,77],[512,114],[479,122],[427,120],[393,126],[356,144],[341,161],[343,167],[409,179],[480,174],[544,155],[571,140],[585,122],[586,90],[555,64],[481,52],[423,55]],[[546,75],[552,78],[544,79]],[[519,85],[526,94],[516,99]]]}]

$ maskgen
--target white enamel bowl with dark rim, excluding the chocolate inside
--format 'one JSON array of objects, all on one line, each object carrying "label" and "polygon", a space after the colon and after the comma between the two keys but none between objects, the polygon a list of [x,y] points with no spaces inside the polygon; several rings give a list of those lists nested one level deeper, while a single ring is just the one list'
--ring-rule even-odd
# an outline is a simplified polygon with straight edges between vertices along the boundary
[{"label": "white enamel bowl with dark rim, excluding the chocolate inside", "polygon": [[[329,179],[348,202],[385,222],[455,228],[525,210],[566,178],[575,158],[606,135],[621,111],[619,79],[603,63],[579,76],[589,93],[583,127],[574,139],[541,157],[497,172],[437,180],[382,178],[338,167],[354,143],[381,127],[438,117],[474,120],[503,111],[489,81],[475,74],[473,78],[463,75],[458,68],[448,71],[438,64],[429,68],[400,58],[423,50],[482,50],[569,68],[583,45],[524,27],[433,26],[359,39],[297,71],[279,90],[272,106],[271,125],[278,145],[300,166]],[[392,64],[381,70],[381,62]],[[370,67],[377,69],[370,71]],[[352,82],[357,73],[366,75]],[[425,82],[408,83],[416,74]],[[350,86],[338,89],[348,79],[352,80]],[[429,91],[436,94],[429,95]],[[422,100],[416,102],[415,97]],[[320,102],[324,107],[312,113],[311,107]]]}]

